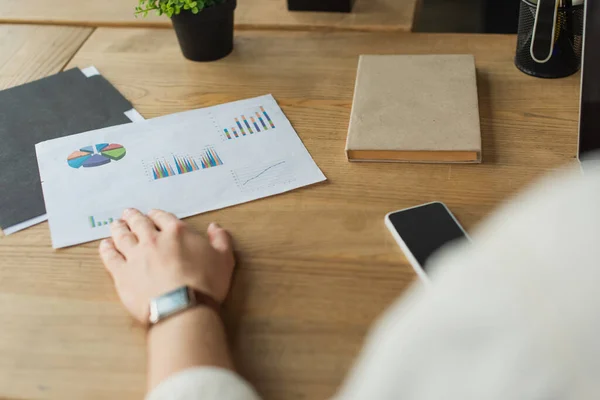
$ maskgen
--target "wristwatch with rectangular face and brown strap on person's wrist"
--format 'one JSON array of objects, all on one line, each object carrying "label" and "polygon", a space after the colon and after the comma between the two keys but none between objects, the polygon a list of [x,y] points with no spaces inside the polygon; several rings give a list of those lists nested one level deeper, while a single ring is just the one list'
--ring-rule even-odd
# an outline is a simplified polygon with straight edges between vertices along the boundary
[{"label": "wristwatch with rectangular face and brown strap on person's wrist", "polygon": [[154,325],[172,315],[198,306],[219,312],[220,305],[211,296],[189,286],[182,286],[150,300],[150,324]]}]

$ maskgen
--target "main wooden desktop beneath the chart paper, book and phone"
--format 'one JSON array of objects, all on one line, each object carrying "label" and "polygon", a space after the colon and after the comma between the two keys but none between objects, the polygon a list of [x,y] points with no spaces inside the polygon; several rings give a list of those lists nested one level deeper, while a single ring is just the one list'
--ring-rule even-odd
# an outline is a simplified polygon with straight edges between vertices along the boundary
[{"label": "main wooden desktop beneath the chart paper, book and phone", "polygon": [[[185,61],[167,30],[98,29],[68,67],[94,64],[146,117],[272,93],[324,184],[189,218],[236,239],[228,330],[267,400],[328,398],[369,325],[414,279],[383,225],[446,202],[467,230],[576,154],[578,77],[512,64],[514,36],[243,32],[235,52]],[[361,53],[472,53],[485,163],[350,164],[344,142]],[[121,309],[97,243],[54,252],[46,224],[0,240],[0,398],[139,399],[144,332]]]}]

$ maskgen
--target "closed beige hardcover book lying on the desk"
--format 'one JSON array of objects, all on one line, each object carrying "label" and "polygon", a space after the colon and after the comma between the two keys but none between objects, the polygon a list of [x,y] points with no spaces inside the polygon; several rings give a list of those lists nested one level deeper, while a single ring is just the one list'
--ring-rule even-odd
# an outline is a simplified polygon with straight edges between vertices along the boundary
[{"label": "closed beige hardcover book lying on the desk", "polygon": [[350,161],[481,162],[472,55],[361,56]]}]

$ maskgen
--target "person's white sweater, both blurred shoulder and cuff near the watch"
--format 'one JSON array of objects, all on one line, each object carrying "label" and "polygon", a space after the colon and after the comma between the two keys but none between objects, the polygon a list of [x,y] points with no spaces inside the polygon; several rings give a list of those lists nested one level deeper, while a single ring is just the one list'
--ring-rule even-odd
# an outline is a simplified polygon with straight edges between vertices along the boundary
[{"label": "person's white sweater, both blurred shoulder and cuff near the watch", "polygon": [[[430,287],[416,285],[380,320],[337,399],[598,397],[600,173],[547,179],[472,237],[443,250]],[[257,399],[212,368],[147,397]]]}]

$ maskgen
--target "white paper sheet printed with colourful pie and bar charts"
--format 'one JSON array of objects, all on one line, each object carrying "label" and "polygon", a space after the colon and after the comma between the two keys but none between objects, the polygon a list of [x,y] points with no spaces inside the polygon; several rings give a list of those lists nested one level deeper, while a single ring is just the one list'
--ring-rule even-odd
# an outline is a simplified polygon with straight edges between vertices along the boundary
[{"label": "white paper sheet printed with colourful pie and bar charts", "polygon": [[325,180],[271,95],[36,145],[54,248],[109,236],[123,209],[183,218]]}]

